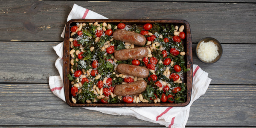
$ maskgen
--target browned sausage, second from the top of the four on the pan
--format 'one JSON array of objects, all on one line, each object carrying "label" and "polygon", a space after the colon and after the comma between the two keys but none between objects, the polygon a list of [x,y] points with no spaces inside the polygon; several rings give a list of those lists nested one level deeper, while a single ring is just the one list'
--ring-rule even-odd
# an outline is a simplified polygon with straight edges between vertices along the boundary
[{"label": "browned sausage, second from the top of the four on the pan", "polygon": [[115,58],[119,61],[126,61],[128,59],[139,59],[148,55],[146,47],[136,47],[133,49],[122,49],[115,51]]}]

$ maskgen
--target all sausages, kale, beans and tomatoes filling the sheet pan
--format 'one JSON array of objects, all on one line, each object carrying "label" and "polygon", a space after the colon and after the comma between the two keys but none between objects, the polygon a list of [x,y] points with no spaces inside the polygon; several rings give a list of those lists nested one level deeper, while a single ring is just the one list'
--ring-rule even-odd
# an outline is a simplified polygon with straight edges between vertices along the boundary
[{"label": "all sausages, kale, beans and tomatoes filling the sheet pan", "polygon": [[73,103],[184,103],[183,25],[70,26]]}]

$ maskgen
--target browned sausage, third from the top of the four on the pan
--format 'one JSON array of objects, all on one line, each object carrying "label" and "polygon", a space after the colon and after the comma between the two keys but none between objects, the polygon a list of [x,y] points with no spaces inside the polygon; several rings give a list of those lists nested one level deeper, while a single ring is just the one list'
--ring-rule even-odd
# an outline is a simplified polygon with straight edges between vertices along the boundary
[{"label": "browned sausage, third from the top of the four on the pan", "polygon": [[138,78],[148,77],[148,69],[131,64],[118,64],[116,71],[125,75],[137,76]]}]

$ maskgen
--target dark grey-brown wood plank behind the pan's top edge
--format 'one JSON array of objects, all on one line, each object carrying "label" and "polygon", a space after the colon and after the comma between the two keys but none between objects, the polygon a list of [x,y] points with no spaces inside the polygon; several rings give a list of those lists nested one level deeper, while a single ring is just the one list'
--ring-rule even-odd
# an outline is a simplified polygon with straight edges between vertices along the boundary
[{"label": "dark grey-brown wood plank behind the pan's top edge", "polygon": [[[60,35],[74,3],[110,19],[187,20],[193,42],[207,36],[221,43],[255,44],[256,40],[256,4],[253,3],[50,0],[1,0],[1,3],[1,41],[63,41]],[[113,5],[115,9],[111,8]]]}]

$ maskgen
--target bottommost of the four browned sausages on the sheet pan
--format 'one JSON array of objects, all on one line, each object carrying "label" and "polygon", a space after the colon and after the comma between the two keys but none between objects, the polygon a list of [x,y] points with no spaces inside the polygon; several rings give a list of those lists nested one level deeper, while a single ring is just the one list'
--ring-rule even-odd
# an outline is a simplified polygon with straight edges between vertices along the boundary
[{"label": "bottommost of the four browned sausages on the sheet pan", "polygon": [[134,81],[129,84],[116,85],[114,94],[117,96],[128,96],[142,93],[147,87],[147,82],[144,80]]}]

